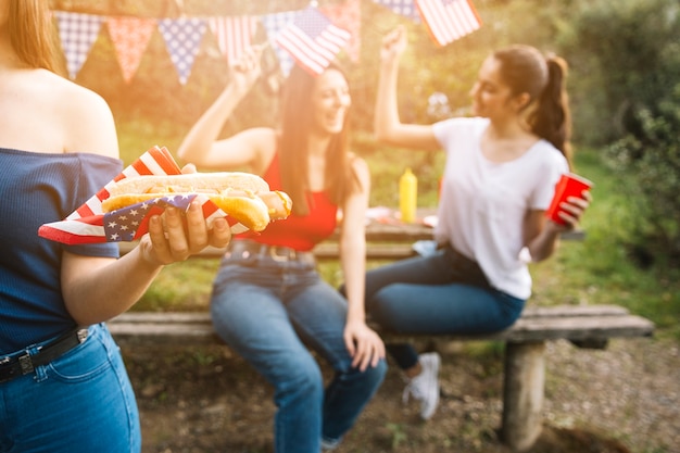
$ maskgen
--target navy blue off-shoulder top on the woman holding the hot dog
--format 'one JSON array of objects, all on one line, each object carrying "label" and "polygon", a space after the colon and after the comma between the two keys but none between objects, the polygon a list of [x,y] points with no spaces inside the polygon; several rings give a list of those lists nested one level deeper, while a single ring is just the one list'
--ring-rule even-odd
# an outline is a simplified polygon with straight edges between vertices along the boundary
[{"label": "navy blue off-shoulder top on the woman holding the hot dog", "polygon": [[38,228],[65,218],[122,167],[98,154],[0,148],[0,356],[76,327],[62,297],[62,250],[117,257],[117,244],[64,246]]}]

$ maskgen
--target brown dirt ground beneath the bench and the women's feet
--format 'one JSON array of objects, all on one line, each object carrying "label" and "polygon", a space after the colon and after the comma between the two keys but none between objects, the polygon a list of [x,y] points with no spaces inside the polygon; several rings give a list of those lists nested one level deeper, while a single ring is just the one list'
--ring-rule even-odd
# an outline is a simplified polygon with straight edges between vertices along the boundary
[{"label": "brown dirt ground beneath the bench and the women's feet", "polygon": [[[499,348],[419,347],[442,355],[442,399],[433,418],[420,421],[417,404],[402,403],[403,378],[391,366],[336,451],[508,453],[496,433],[503,386]],[[122,348],[137,391],[143,453],[273,452],[272,389],[228,348]],[[680,453],[678,342],[614,340],[604,351],[549,343],[544,419],[529,453]]]}]

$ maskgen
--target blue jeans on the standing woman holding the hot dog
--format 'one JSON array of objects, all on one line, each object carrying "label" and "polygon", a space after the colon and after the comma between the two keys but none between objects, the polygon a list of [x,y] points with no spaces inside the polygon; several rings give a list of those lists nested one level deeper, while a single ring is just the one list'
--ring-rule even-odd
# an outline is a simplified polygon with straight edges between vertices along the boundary
[{"label": "blue jeans on the standing woman holding the hot dog", "polygon": [[[1,453],[137,453],[139,414],[104,325],[34,374],[0,383]],[[36,344],[39,347],[40,344]]]}]

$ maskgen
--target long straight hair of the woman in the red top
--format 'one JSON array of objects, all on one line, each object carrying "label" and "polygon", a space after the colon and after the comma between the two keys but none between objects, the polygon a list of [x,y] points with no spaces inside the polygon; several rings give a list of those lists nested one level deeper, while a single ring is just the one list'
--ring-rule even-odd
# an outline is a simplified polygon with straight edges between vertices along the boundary
[{"label": "long straight hair of the woman in the red top", "polygon": [[[326,71],[345,73],[336,64]],[[294,65],[281,91],[279,163],[282,189],[293,201],[293,212],[306,215],[310,212],[308,187],[308,137],[314,124],[314,105],[311,93],[317,78],[299,65]],[[357,183],[348,152],[349,112],[342,130],[332,136],[326,150],[326,187],[330,200],[340,204]],[[303,175],[301,177],[301,175]]]}]

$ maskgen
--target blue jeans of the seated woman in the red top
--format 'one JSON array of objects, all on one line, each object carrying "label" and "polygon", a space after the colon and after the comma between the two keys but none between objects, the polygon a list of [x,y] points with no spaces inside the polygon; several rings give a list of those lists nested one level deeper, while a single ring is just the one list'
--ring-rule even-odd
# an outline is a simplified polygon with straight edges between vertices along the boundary
[{"label": "blue jeans of the seated woman in the red top", "polygon": [[[385,361],[352,367],[347,301],[313,263],[226,259],[211,309],[217,334],[274,386],[277,453],[318,453],[322,438],[339,441],[385,378]],[[308,348],[335,370],[326,389]]]}]

